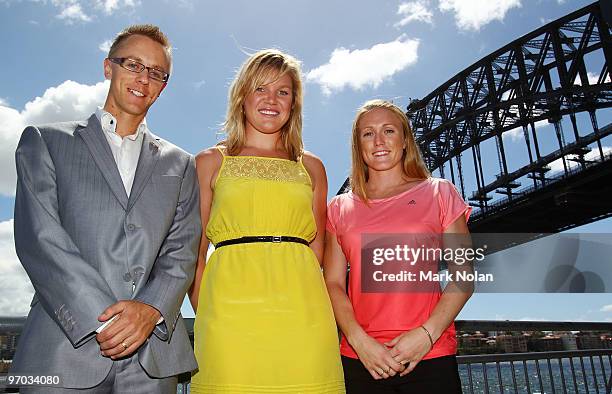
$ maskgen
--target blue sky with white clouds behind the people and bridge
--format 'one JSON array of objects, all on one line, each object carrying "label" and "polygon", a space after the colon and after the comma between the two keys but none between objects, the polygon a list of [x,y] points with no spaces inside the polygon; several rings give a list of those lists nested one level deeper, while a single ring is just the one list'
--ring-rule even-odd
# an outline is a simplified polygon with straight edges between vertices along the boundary
[{"label": "blue sky with white clouds behind the people and bridge", "polygon": [[[31,296],[12,249],[19,134],[27,124],[86,118],[102,104],[104,49],[124,26],[154,23],[170,37],[173,75],[147,121],[192,153],[217,141],[228,85],[245,51],[276,47],[298,57],[306,81],[306,148],[326,165],[333,195],[348,173],[351,122],[360,104],[383,98],[406,107],[409,98],[425,96],[488,53],[587,4],[0,0],[0,315],[25,314]],[[608,220],[582,230],[611,229]],[[612,321],[612,297],[478,294],[460,317]]]}]

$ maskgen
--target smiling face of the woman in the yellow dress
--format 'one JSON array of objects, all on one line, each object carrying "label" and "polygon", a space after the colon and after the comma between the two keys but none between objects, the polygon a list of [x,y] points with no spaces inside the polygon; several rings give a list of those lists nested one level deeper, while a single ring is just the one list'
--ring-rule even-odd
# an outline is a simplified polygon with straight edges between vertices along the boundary
[{"label": "smiling face of the woman in the yellow dress", "polygon": [[[274,134],[289,120],[293,104],[293,80],[274,73],[244,100],[246,131]],[[276,79],[276,80],[275,80]]]}]

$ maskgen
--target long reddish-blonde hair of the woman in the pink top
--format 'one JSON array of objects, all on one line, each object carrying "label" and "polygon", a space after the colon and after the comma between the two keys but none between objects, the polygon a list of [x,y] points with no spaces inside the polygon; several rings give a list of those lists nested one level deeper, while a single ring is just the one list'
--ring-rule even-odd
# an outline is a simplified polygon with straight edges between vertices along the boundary
[{"label": "long reddish-blonde hair of the woman in the pink top", "polygon": [[408,122],[408,117],[397,105],[386,100],[370,100],[363,104],[358,110],[353,121],[352,132],[352,163],[351,163],[351,190],[353,193],[361,197],[366,203],[368,201],[368,193],[366,191],[366,183],[368,182],[368,166],[363,160],[363,152],[361,150],[359,121],[363,115],[373,109],[382,108],[391,111],[396,115],[402,123],[404,132],[404,141],[406,148],[402,154],[404,174],[410,178],[426,179],[431,176],[421,151],[414,140],[412,128]]}]

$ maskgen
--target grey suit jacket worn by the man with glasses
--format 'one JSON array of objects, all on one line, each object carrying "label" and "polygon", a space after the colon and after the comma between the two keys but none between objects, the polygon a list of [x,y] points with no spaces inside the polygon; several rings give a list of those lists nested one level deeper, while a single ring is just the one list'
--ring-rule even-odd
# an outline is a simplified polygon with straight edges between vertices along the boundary
[{"label": "grey suit jacket worn by the man with glasses", "polygon": [[195,369],[180,316],[201,234],[193,156],[145,133],[129,198],[95,115],[28,127],[15,156],[15,246],[36,293],[11,372],[95,386],[113,363],[98,316],[128,299],[164,318],[133,356],[144,371]]}]

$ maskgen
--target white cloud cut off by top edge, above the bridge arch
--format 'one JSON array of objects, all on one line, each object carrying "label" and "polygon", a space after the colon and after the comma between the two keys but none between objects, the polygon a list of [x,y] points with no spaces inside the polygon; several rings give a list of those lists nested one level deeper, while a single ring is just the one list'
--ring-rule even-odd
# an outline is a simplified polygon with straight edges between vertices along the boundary
[{"label": "white cloud cut off by top edge, above the bridge arch", "polygon": [[461,30],[477,31],[494,20],[503,21],[506,13],[521,6],[520,0],[440,0],[443,12],[454,12]]}]

